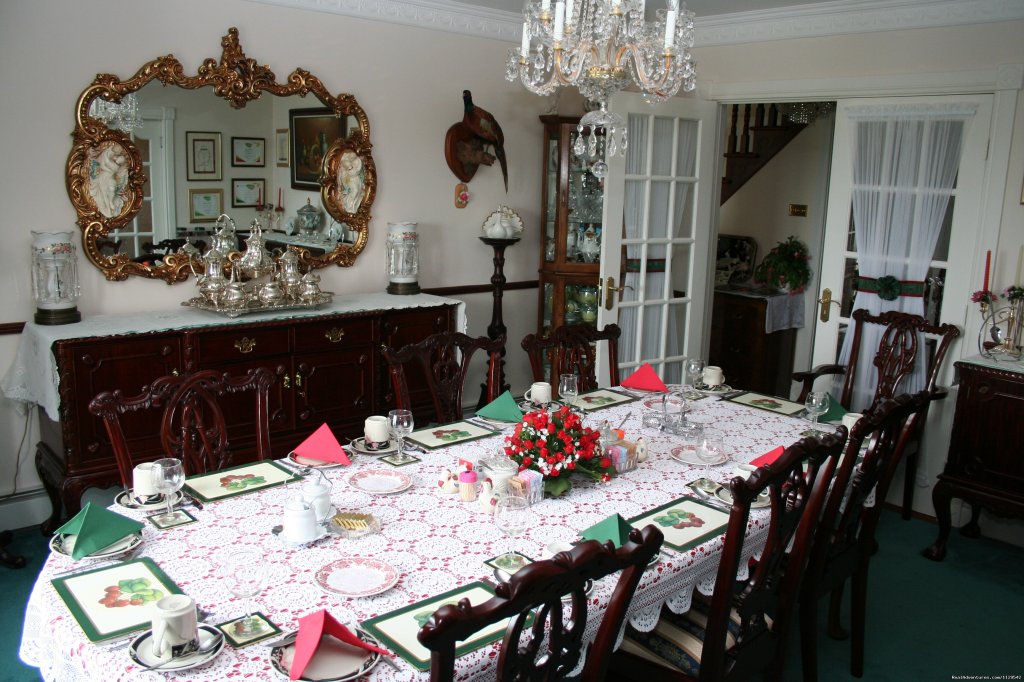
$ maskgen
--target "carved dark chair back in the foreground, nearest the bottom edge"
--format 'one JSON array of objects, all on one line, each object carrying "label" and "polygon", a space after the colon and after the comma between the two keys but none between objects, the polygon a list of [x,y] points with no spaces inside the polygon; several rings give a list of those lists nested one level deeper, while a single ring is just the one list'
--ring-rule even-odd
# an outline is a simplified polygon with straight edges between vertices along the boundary
[{"label": "carved dark chair back in the foreground, nearest the bottom edge", "polygon": [[[581,679],[603,680],[630,601],[663,540],[662,531],[648,525],[630,531],[629,542],[617,549],[610,543],[587,541],[571,551],[521,568],[507,583],[501,583],[495,596],[483,603],[473,606],[463,599],[458,604],[441,606],[418,634],[420,643],[431,651],[431,681],[454,680],[456,645],[505,619],[510,621],[498,657],[499,681],[561,680],[584,655],[586,664]],[[618,571],[622,573],[597,637],[584,646],[590,606],[586,585],[588,581]],[[529,637],[522,641],[521,636],[527,630]]]}]

